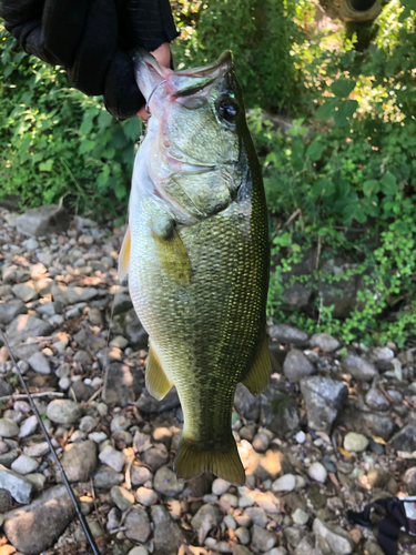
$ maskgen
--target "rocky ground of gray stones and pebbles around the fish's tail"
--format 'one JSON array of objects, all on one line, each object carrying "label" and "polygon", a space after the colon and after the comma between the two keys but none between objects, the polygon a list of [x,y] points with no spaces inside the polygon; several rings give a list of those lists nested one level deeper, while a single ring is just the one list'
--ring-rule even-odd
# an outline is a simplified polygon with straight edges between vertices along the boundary
[{"label": "rocky ground of gray stones and pebbles around the fish's tail", "polygon": [[[246,485],[179,482],[182,411],[174,391],[144,389],[122,230],[75,218],[59,232],[65,218],[50,215],[52,229],[0,210],[0,324],[102,553],[382,554],[376,523],[352,527],[346,511],[416,494],[416,349],[270,326],[270,385],[235,396]],[[0,373],[0,555],[89,552],[4,346]],[[399,544],[416,553],[412,536]]]}]

